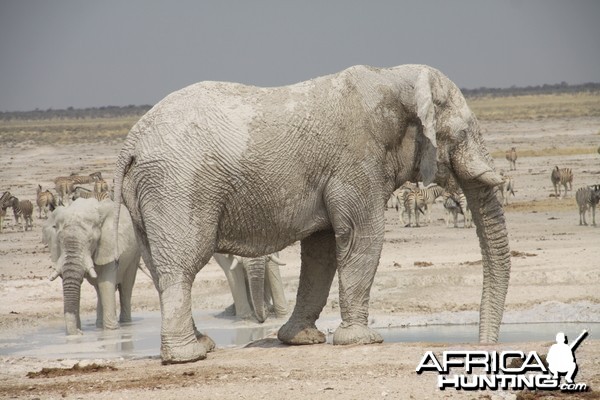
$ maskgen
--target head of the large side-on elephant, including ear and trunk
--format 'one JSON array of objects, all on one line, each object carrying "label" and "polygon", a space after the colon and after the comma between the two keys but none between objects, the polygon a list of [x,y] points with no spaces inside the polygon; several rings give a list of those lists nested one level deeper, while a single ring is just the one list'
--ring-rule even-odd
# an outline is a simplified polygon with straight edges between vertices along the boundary
[{"label": "head of the large side-on elephant, including ear and trunk", "polygon": [[495,342],[511,265],[504,211],[494,190],[502,176],[483,144],[475,115],[450,79],[435,69],[420,69],[414,99],[426,138],[419,170],[423,181],[449,188],[458,184],[467,197],[483,259],[479,338]]}]

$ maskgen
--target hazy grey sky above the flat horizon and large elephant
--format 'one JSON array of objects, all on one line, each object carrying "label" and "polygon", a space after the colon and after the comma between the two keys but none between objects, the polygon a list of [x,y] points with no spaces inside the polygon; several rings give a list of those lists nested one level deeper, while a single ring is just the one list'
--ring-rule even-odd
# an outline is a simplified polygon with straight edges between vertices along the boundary
[{"label": "hazy grey sky above the flat horizon and large elephant", "polygon": [[429,64],[462,88],[600,82],[599,20],[596,0],[0,0],[0,111],[355,64]]}]

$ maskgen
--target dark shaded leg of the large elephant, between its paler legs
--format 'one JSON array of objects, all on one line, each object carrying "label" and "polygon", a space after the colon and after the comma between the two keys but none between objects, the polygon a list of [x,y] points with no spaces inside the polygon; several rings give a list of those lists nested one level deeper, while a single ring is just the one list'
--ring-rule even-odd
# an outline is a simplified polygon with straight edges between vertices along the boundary
[{"label": "dark shaded leg of the large elephant, between its paler legs", "polygon": [[301,268],[296,306],[277,337],[287,344],[324,343],[315,321],[327,303],[336,271],[335,235],[316,232],[301,242]]}]

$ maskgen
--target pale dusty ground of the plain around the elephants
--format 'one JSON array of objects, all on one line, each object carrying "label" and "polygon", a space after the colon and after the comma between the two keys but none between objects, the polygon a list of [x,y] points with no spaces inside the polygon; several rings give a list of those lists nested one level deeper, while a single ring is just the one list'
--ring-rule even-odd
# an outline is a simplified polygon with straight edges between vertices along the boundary
[{"label": "pale dusty ground of the plain around the elephants", "polygon": [[[492,152],[510,146],[519,151],[600,144],[598,118],[484,123],[483,127]],[[4,147],[0,152],[0,190],[9,189],[22,199],[34,201],[37,184],[50,187],[55,176],[100,170],[111,179],[119,147],[118,143],[60,147],[21,143]],[[573,168],[576,189],[600,183],[600,157],[565,154],[521,157],[517,171],[511,172],[517,192],[506,208],[514,256],[505,322],[600,322],[600,229],[578,225],[574,193],[566,199],[549,197],[554,165]],[[503,157],[496,163],[508,170]],[[36,210],[33,231],[22,232],[13,226],[10,213],[0,235],[0,339],[5,341],[62,314],[60,280],[50,282],[46,278],[51,261],[40,241],[43,221],[37,219]],[[475,230],[446,228],[439,204],[433,213],[430,226],[404,228],[395,212],[387,212],[386,242],[371,293],[374,326],[477,320],[481,256]],[[298,256],[298,244],[281,254],[287,262],[282,275],[290,305],[297,289]],[[87,286],[83,292],[83,312],[91,313],[93,290]],[[133,303],[134,313],[159,309],[156,291],[143,274],[138,275]],[[195,309],[222,309],[230,303],[222,271],[214,263],[207,265],[195,282]],[[334,283],[323,315],[335,317],[338,313]],[[267,339],[250,348],[217,349],[207,360],[193,364],[162,366],[157,357],[151,357],[100,360],[100,368],[95,368],[89,366],[90,360],[84,360],[81,365],[88,367],[74,370],[69,368],[78,360],[0,356],[0,397],[514,398],[516,393],[442,392],[436,387],[437,374],[417,375],[414,371],[427,350],[484,348],[545,353],[551,344],[550,337],[546,342],[489,347],[440,343],[287,347]],[[577,380],[594,389],[586,398],[597,398],[600,391],[599,360],[600,332],[592,332],[577,350]],[[45,367],[60,370],[44,372]],[[27,377],[40,371],[45,375]]]}]

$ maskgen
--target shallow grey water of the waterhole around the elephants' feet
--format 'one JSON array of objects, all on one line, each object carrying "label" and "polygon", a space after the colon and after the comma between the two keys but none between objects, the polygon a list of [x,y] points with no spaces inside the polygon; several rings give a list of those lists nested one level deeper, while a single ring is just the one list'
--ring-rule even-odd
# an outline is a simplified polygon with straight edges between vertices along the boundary
[{"label": "shallow grey water of the waterhole around the elephants' feet", "polygon": [[[194,320],[202,332],[208,334],[218,347],[245,345],[254,340],[274,337],[285,319],[269,319],[259,325],[239,321],[218,313],[195,313]],[[337,323],[327,320],[327,324]],[[65,336],[62,320],[51,322],[19,338],[0,339],[0,355],[29,356],[46,359],[95,359],[157,357],[160,351],[160,314],[136,313],[131,323],[115,331],[96,329],[95,316],[82,319],[83,335]],[[577,337],[583,329],[600,334],[600,323],[533,323],[504,324],[500,342],[555,340],[557,332],[568,338]],[[378,328],[386,342],[439,342],[476,343],[477,325],[428,325],[396,328]],[[328,341],[331,341],[331,334]]]}]

